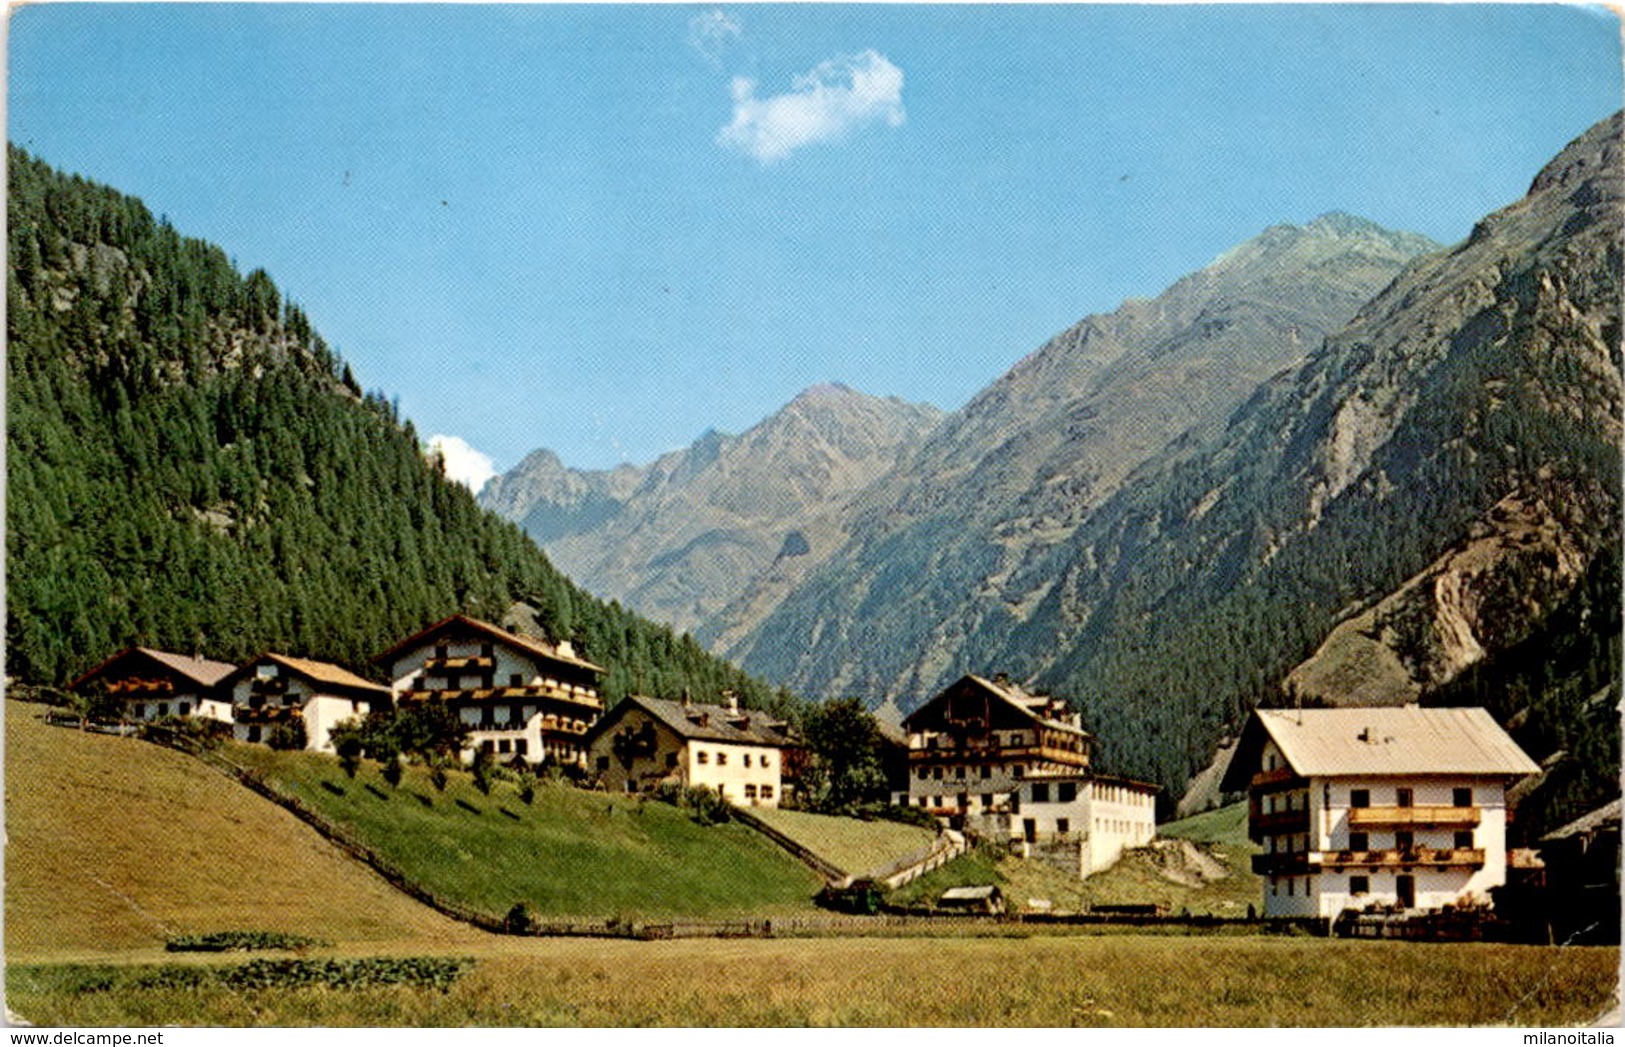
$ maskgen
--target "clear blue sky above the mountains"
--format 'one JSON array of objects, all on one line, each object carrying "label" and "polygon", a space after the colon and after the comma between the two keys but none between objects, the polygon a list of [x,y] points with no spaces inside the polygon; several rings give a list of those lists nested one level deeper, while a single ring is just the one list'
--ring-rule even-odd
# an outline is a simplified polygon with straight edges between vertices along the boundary
[{"label": "clear blue sky above the mountains", "polygon": [[956,408],[1282,221],[1458,241],[1622,91],[1560,5],[47,3],[8,59],[11,141],[497,468]]}]

